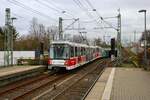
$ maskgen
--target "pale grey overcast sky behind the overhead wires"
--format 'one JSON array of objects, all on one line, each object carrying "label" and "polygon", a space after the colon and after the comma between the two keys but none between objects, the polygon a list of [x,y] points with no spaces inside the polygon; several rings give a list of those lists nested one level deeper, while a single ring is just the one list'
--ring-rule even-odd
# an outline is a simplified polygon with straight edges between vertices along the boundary
[{"label": "pale grey overcast sky behind the overhead wires", "polygon": [[[77,2],[82,4],[80,7]],[[125,41],[133,40],[133,32],[137,31],[137,38],[144,30],[144,14],[138,13],[140,9],[147,10],[147,29],[150,28],[150,1],[149,0],[89,0],[92,6],[102,17],[114,17],[118,14],[120,8],[122,16],[122,39]],[[20,5],[19,3],[23,4]],[[90,38],[103,37],[106,39],[116,37],[116,31],[113,29],[97,29],[95,27],[107,27],[106,24],[98,24],[94,20],[98,19],[96,12],[92,11],[86,0],[0,0],[0,26],[5,24],[5,8],[11,8],[11,16],[18,19],[14,26],[20,34],[27,34],[30,21],[36,17],[39,23],[46,26],[57,25],[58,18],[64,19],[80,18],[80,27],[85,27],[87,36]],[[19,4],[19,6],[18,6]],[[23,8],[23,6],[28,8]],[[21,7],[20,7],[21,6]],[[36,10],[36,14],[32,10]],[[37,12],[38,11],[38,12]],[[66,13],[62,13],[66,11]],[[35,12],[35,11],[34,11]],[[107,19],[114,26],[117,26],[116,19]],[[64,21],[64,27],[71,21]],[[74,27],[77,26],[77,23]],[[66,31],[66,33],[78,34],[77,31]]]}]

